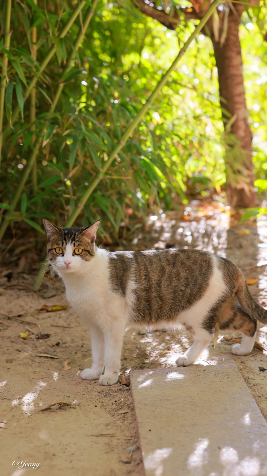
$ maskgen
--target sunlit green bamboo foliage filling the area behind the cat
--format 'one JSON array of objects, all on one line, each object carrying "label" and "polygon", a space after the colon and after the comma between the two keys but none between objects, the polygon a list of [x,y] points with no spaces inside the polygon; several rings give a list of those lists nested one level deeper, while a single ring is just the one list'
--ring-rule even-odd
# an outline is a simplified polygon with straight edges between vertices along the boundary
[{"label": "sunlit green bamboo foliage filling the area behind the cat", "polygon": [[[5,3],[0,1],[2,27]],[[82,18],[90,4],[86,1]],[[172,8],[175,5],[179,6],[172,3]],[[4,125],[10,123],[17,104],[21,115],[3,144],[0,200],[4,206],[0,206],[6,210],[3,213],[7,218],[24,220],[38,231],[40,217],[64,225],[194,28],[192,22],[182,20],[176,31],[169,31],[143,16],[128,1],[120,1],[119,5],[100,2],[71,69],[61,79],[64,87],[57,108],[50,113],[58,81],[81,28],[78,16],[67,35],[59,38],[74,8],[76,3],[70,0],[38,0],[37,6],[32,0],[12,2]],[[248,14],[254,15],[250,10]],[[260,21],[264,21],[261,12],[256,19],[253,17],[255,29]],[[33,60],[31,44],[31,29],[35,26],[38,27],[37,61]],[[264,128],[267,80],[261,79],[258,84],[259,110],[254,108],[257,91],[248,82],[255,82],[259,75],[250,68],[251,64],[255,65],[253,58],[258,70],[266,68],[266,45],[259,30],[255,38],[251,53],[251,33],[241,27],[243,48],[250,51],[250,56],[244,54],[248,107],[251,118],[254,122],[258,120],[263,130],[262,142],[255,142],[254,157],[257,178],[263,180],[267,173],[261,145],[267,139]],[[56,54],[37,82],[37,116],[31,123],[29,100],[23,105],[22,97],[53,45]],[[1,51],[4,52],[3,47]],[[29,177],[20,211],[12,210],[12,197],[34,140],[40,136],[46,121],[48,126],[38,154],[37,192]],[[192,42],[152,109],[89,198],[80,216],[81,223],[87,225],[102,216],[117,233],[128,208],[144,215],[152,205],[177,207],[179,200],[185,200],[188,189],[199,188],[205,195],[215,187],[219,192],[225,183],[225,143],[217,69],[210,39],[201,35]]]}]

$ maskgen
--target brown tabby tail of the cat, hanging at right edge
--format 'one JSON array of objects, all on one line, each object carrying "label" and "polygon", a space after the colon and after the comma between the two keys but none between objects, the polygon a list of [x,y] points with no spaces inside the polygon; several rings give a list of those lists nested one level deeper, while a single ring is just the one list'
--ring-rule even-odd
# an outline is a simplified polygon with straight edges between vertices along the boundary
[{"label": "brown tabby tail of the cat, hanging at right edge", "polygon": [[243,310],[253,319],[258,320],[262,324],[267,324],[267,310],[260,306],[251,296],[246,279],[240,272],[238,280],[238,289],[236,296]]}]

